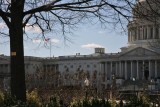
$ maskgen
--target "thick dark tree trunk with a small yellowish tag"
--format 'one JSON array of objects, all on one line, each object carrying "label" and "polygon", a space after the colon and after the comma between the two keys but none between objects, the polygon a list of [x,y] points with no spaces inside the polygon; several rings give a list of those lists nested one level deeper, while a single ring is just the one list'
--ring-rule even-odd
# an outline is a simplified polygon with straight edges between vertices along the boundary
[{"label": "thick dark tree trunk with a small yellowish tag", "polygon": [[17,100],[26,101],[24,49],[23,49],[23,0],[12,0],[10,56],[11,56],[11,94]]}]

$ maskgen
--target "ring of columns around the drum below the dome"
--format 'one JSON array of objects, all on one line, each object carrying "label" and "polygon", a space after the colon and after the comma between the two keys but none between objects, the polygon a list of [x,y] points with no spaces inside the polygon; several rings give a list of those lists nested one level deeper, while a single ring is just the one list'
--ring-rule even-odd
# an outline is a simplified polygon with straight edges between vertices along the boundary
[{"label": "ring of columns around the drum below the dome", "polygon": [[160,27],[138,26],[128,29],[128,42],[147,39],[160,39]]}]

